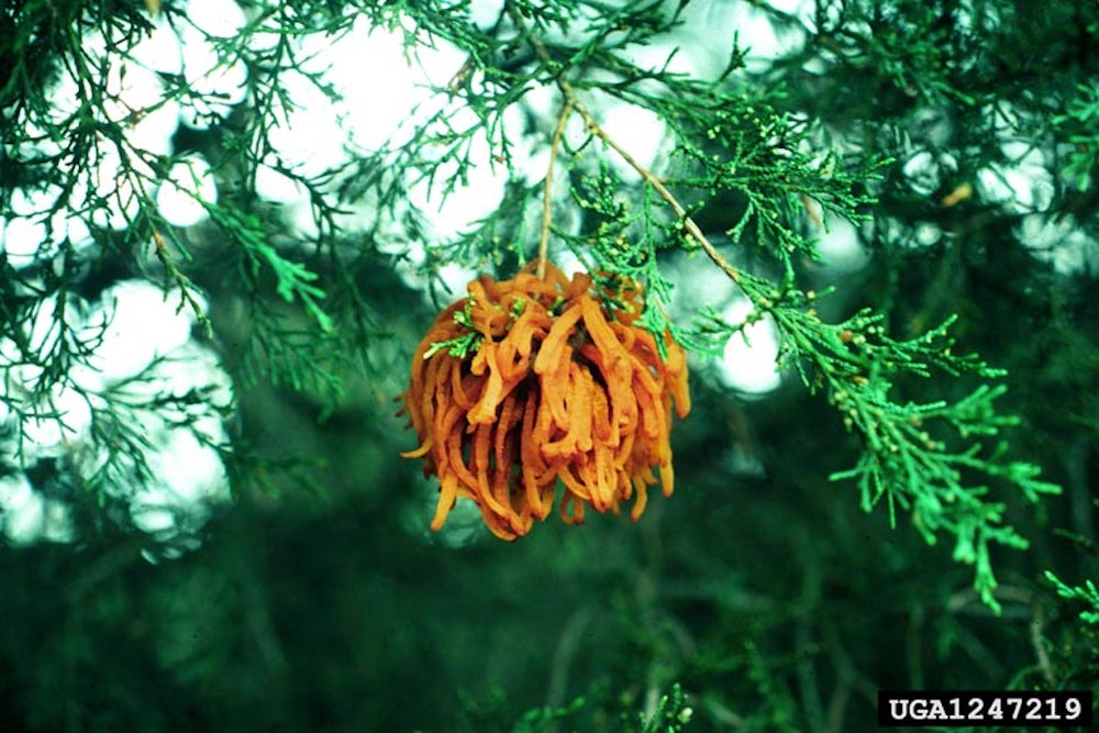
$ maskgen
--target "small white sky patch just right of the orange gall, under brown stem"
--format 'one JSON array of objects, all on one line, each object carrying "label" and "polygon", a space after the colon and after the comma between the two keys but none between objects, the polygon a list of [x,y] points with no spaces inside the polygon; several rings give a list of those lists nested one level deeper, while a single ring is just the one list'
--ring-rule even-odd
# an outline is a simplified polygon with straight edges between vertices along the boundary
[{"label": "small white sky patch just right of the orange gall, under brown stem", "polygon": [[[725,322],[743,322],[753,311],[746,298],[737,298],[725,309]],[[778,371],[778,329],[770,315],[746,325],[733,334],[725,351],[718,358],[719,377],[722,382],[739,392],[763,396],[778,389],[782,384]]]}]

